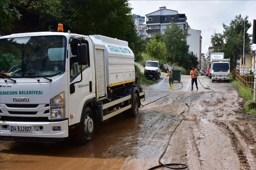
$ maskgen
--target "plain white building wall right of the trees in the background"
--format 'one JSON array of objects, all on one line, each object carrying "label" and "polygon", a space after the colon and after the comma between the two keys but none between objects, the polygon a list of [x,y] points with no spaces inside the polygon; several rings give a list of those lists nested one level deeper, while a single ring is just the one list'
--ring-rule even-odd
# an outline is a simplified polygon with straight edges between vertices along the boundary
[{"label": "plain white building wall right of the trees in the background", "polygon": [[188,34],[190,36],[187,37],[187,44],[189,45],[189,51],[193,52],[197,55],[199,61],[199,68],[201,69],[201,52],[202,52],[202,36],[201,30],[194,30],[189,28]]}]

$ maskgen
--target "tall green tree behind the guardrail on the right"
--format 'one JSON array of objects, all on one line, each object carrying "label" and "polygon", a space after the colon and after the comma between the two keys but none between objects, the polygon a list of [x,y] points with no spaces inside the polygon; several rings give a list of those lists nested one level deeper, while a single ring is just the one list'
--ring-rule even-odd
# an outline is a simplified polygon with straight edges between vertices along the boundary
[{"label": "tall green tree behind the guardrail on the right", "polygon": [[[248,34],[252,24],[245,17],[245,53],[251,51],[251,34]],[[212,52],[224,52],[225,58],[230,58],[230,68],[237,65],[238,56],[243,54],[244,19],[240,15],[235,16],[229,25],[223,24],[223,33],[214,33],[211,36]]]}]

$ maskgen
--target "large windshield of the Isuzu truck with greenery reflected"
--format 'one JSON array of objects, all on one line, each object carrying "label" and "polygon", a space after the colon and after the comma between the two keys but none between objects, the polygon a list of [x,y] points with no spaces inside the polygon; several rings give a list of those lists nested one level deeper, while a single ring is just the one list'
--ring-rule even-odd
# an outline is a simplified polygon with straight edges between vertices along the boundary
[{"label": "large windshield of the Isuzu truck with greenery reflected", "polygon": [[13,78],[60,74],[66,46],[66,37],[59,35],[0,39],[0,72]]}]

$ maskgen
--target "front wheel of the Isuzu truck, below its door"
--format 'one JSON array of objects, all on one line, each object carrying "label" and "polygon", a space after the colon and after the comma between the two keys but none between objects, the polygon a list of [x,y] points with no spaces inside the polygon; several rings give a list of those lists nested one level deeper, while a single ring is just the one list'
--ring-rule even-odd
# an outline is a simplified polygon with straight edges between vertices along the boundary
[{"label": "front wheel of the Isuzu truck, below its door", "polygon": [[79,127],[76,129],[76,141],[84,145],[93,139],[95,131],[95,118],[93,110],[86,107],[82,113]]}]

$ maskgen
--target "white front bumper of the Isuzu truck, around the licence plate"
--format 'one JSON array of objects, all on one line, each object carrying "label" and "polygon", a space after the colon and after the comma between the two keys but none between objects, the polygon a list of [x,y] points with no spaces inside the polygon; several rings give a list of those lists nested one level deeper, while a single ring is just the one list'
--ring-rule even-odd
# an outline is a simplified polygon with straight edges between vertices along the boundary
[{"label": "white front bumper of the Isuzu truck, around the licence plate", "polygon": [[[11,132],[10,125],[15,126],[31,126],[32,132]],[[40,127],[41,126],[41,127]],[[60,126],[60,131],[53,131],[54,126]],[[12,140],[24,138],[66,138],[68,137],[68,120],[59,122],[16,122],[16,121],[0,121],[0,139]]]}]

